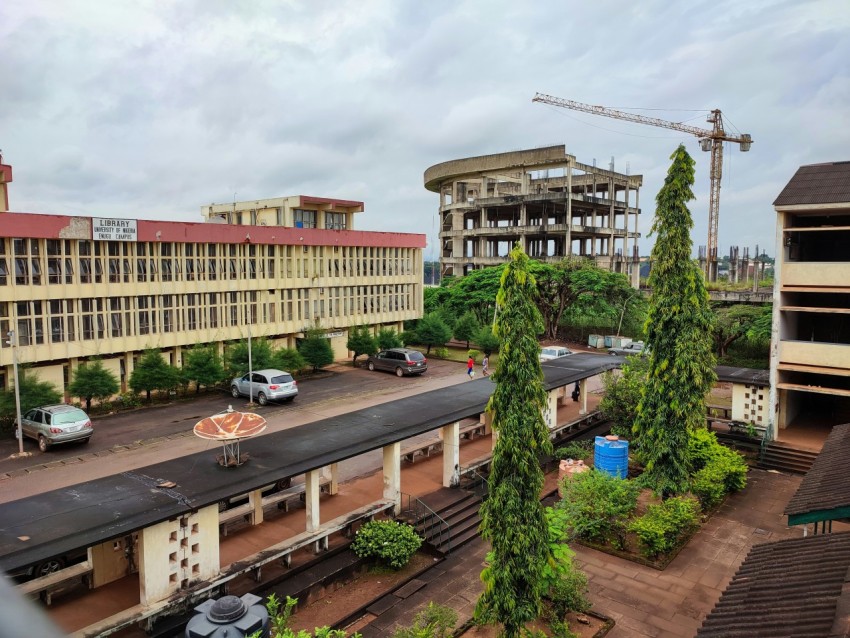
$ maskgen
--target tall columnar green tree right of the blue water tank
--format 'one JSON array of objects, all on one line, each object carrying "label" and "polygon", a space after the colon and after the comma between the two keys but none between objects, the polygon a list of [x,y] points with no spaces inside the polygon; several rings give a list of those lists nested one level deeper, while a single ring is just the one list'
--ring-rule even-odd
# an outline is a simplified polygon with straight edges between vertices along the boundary
[{"label": "tall columnar green tree right of the blue water tank", "polygon": [[633,432],[644,461],[644,480],[663,497],[688,487],[688,440],[705,426],[705,396],[716,380],[712,352],[714,317],[702,272],[691,259],[694,160],[685,147],[655,198],[646,320],[649,373]]}]

